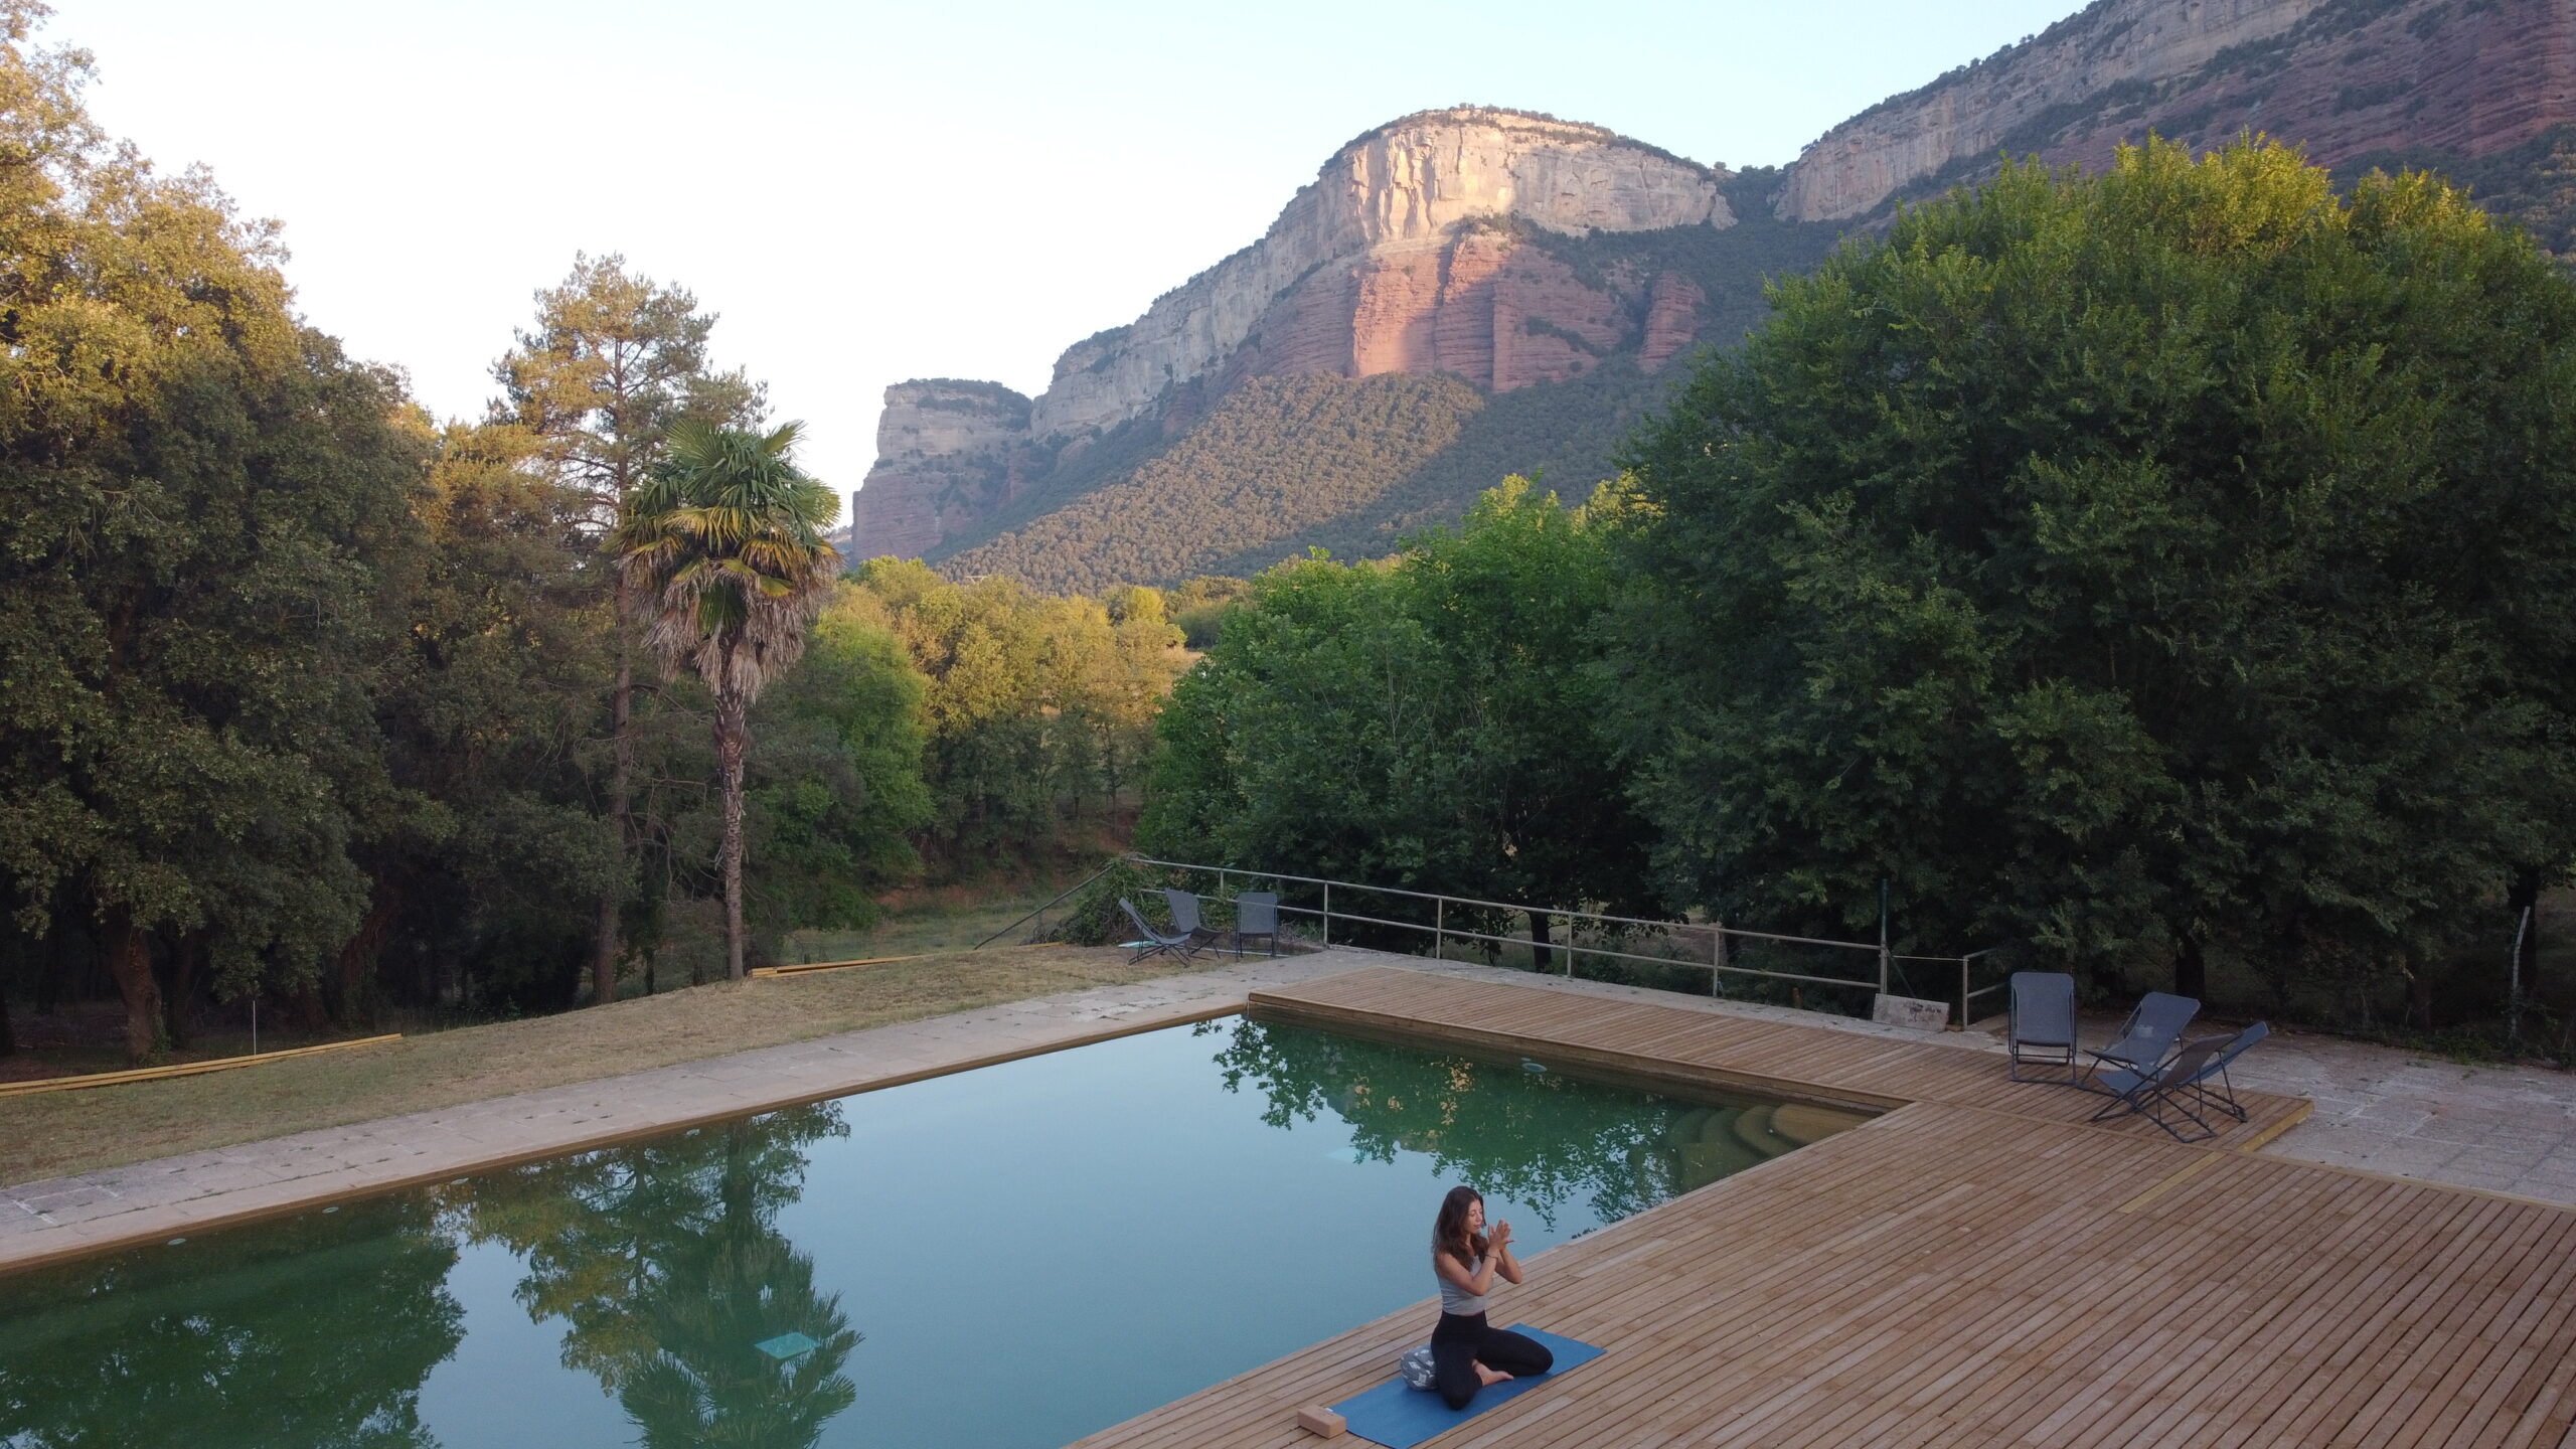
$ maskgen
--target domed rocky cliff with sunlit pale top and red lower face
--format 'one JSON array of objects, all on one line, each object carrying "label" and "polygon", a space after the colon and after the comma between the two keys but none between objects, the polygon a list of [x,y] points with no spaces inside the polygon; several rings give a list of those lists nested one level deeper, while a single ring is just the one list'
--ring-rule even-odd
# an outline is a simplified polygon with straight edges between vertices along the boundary
[{"label": "domed rocky cliff with sunlit pale top and red lower face", "polygon": [[1610,356],[1662,366],[1705,291],[1641,266],[1574,266],[1546,237],[1723,229],[1726,173],[1600,126],[1425,111],[1350,142],[1262,240],[1066,348],[1036,400],[997,384],[886,389],[853,508],[863,554],[938,554],[1100,436],[1185,423],[1255,376],[1445,371],[1510,392]]}]

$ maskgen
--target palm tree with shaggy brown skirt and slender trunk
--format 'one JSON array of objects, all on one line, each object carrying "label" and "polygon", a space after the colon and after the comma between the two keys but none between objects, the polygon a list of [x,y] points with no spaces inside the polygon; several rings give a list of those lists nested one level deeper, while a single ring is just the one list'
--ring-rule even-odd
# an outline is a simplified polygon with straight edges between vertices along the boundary
[{"label": "palm tree with shaggy brown skirt and slender trunk", "polygon": [[799,423],[775,433],[677,423],[626,500],[611,552],[647,614],[662,673],[716,696],[724,779],[724,949],[742,980],[742,755],[760,691],[804,655],[840,554],[822,539],[832,490],[796,469]]}]

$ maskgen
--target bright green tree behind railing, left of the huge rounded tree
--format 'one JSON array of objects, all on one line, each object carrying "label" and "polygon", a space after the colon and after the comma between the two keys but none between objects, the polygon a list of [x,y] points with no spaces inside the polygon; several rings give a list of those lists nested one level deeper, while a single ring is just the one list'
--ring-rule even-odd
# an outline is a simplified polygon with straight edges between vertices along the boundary
[{"label": "bright green tree behind railing, left of the huge rounded tree", "polygon": [[[1139,841],[1247,869],[1651,908],[1646,825],[1597,735],[1607,601],[1600,529],[1522,480],[1394,562],[1260,575],[1172,691]],[[1543,941],[1546,920],[1530,926]]]}]

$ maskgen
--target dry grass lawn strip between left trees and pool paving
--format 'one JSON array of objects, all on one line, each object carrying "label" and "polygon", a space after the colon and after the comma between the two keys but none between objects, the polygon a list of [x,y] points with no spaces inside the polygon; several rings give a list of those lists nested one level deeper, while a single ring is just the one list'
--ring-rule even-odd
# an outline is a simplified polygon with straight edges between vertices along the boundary
[{"label": "dry grass lawn strip between left trees and pool paving", "polygon": [[809,977],[670,990],[608,1008],[464,1026],[201,1078],[0,1098],[0,1183],[232,1147],[314,1127],[430,1111],[1159,975],[1172,975],[1172,967],[1159,962],[1131,967],[1121,949],[961,951]]}]

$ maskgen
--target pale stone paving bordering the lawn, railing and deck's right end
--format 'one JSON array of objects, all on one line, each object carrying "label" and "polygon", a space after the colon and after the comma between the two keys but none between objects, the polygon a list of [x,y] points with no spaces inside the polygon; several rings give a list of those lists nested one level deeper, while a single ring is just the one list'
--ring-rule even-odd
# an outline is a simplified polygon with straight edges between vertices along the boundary
[{"label": "pale stone paving bordering the lawn, railing and deck's right end", "polygon": [[[1927,1034],[1777,1006],[1332,949],[1056,993],[10,1186],[0,1189],[0,1274],[703,1127],[752,1111],[801,1106],[1136,1031],[1231,1016],[1244,1011],[1257,990],[1342,975],[1355,967],[1517,982],[1582,998],[1775,1021],[1880,1042],[1999,1049],[1999,1042],[1978,1031]],[[2246,1057],[2246,1070],[2239,1073],[2244,1085],[2295,1093],[2318,1104],[2316,1116],[2267,1142],[2267,1155],[2576,1204],[2576,1078],[2566,1073],[2452,1067],[2385,1047],[2295,1034],[2275,1036],[2257,1057]],[[1777,1091],[1777,1085],[1767,1091]],[[1893,1098],[1896,1093],[1880,1096]]]}]

